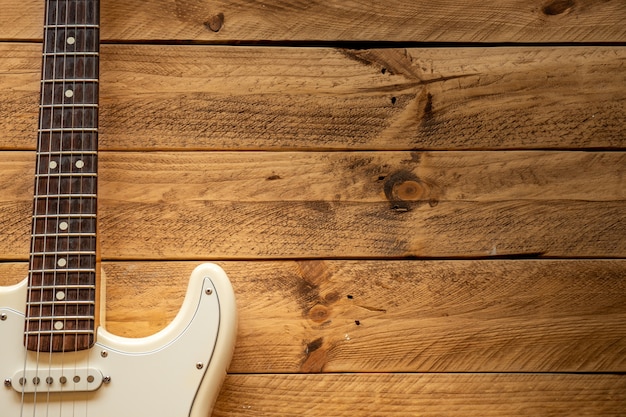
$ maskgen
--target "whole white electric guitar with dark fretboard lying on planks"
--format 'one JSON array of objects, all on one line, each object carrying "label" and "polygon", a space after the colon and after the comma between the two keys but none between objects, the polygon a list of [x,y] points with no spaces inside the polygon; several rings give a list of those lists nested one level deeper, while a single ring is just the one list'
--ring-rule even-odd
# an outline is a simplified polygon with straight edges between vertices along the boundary
[{"label": "whole white electric guitar with dark fretboard lying on planks", "polygon": [[107,332],[96,252],[98,0],[45,0],[28,277],[0,287],[2,417],[207,417],[230,363],[235,298],[213,264],[176,318]]}]

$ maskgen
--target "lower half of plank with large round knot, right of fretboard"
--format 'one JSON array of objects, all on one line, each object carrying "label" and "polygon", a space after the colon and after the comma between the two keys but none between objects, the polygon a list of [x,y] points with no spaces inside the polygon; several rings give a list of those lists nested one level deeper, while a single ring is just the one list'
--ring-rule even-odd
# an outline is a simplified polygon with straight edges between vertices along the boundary
[{"label": "lower half of plank with large round knot, right of fretboard", "polygon": [[[107,259],[623,257],[626,204],[103,201]],[[278,244],[277,242],[280,242]]]}]

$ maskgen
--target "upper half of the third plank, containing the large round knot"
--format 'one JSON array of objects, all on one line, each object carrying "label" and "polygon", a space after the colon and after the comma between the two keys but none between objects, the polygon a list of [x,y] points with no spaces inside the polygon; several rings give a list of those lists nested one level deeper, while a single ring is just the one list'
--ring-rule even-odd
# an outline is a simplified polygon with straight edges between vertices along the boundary
[{"label": "upper half of the third plank, containing the large round knot", "polygon": [[[99,168],[104,200],[141,203],[626,199],[624,152],[101,151]],[[0,201],[31,201],[34,170],[0,152]]]}]

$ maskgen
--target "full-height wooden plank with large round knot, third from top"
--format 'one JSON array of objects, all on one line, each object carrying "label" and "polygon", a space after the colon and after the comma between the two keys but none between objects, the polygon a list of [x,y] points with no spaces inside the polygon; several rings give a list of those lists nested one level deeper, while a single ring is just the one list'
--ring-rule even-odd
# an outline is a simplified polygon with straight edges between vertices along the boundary
[{"label": "full-height wooden plank with large round knot, third from top", "polygon": [[[621,152],[103,152],[102,256],[620,257],[624,158]],[[25,259],[32,156],[4,152],[0,161],[0,253]]]}]

